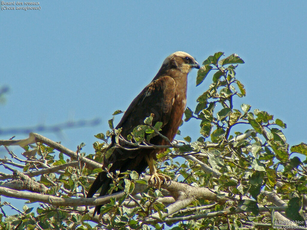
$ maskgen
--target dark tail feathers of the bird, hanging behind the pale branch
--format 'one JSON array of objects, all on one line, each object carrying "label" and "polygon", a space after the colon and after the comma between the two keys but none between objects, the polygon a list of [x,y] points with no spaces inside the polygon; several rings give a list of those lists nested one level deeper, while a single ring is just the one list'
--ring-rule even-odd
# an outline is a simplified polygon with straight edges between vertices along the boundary
[{"label": "dark tail feathers of the bird, hanging behind the pale branch", "polygon": [[[100,191],[99,197],[107,195],[111,182],[112,182],[112,179],[107,177],[106,172],[100,172],[97,178],[95,179],[95,181],[93,182],[90,190],[88,190],[86,198],[93,197],[94,194],[99,190],[100,187],[101,187],[101,191]],[[97,215],[100,214],[101,207],[102,205],[98,205],[95,207],[93,216],[95,216],[96,213]]]}]

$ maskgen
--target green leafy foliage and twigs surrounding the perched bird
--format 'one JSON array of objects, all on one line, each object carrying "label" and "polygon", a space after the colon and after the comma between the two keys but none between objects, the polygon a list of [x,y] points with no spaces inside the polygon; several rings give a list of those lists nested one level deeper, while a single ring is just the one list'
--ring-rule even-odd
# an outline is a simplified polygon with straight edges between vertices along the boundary
[{"label": "green leafy foliage and twigs surrounding the perched bird", "polygon": [[[169,204],[175,202],[174,198],[180,201],[178,194],[171,197],[174,191],[167,192],[167,187],[166,190],[147,187],[147,180],[134,171],[109,173],[110,192],[123,190],[124,193],[103,205],[101,220],[91,217],[87,209],[41,203],[36,210],[24,206],[13,216],[5,216],[2,211],[2,229],[262,229],[274,225],[277,212],[304,225],[307,161],[302,157],[307,156],[307,145],[301,143],[289,150],[282,132],[286,128],[283,121],[274,119],[267,111],[252,109],[251,105],[234,104],[235,97],[242,98],[247,93],[236,76],[237,68],[244,61],[236,54],[221,59],[223,55],[217,52],[203,62],[196,86],[204,87],[205,91],[197,98],[194,110],[189,107],[185,110],[185,122],[199,121],[197,140],[192,140],[190,134],[184,141],[169,143],[168,148],[153,146],[149,141],[161,135],[162,126],[161,122],[153,124],[153,114],[127,137],[121,135],[121,129],[114,128],[113,118],[108,122],[110,130],[95,135],[99,139],[93,144],[95,154],[82,153],[82,143],[76,151],[77,165],[36,177],[38,183],[47,187],[47,194],[84,197],[92,178],[102,169],[88,168],[80,163],[81,159],[86,157],[101,163],[103,157],[111,154],[113,149],[107,147],[110,139],[115,138],[117,146],[113,148],[123,144],[130,148],[166,148],[157,155],[159,172],[169,175],[174,183],[193,186],[190,187],[195,194],[208,188],[216,199],[192,199],[170,213],[176,205]],[[209,74],[212,83],[207,87],[204,80]],[[119,113],[122,111],[117,110],[113,115]],[[196,133],[196,128],[193,132]],[[24,148],[27,161],[9,152],[14,160],[25,163],[24,173],[72,162],[42,143]],[[11,178],[2,179],[4,183]],[[136,195],[138,186],[146,188]],[[6,206],[12,205],[2,202],[2,210]],[[89,220],[99,224],[89,224]]]}]

